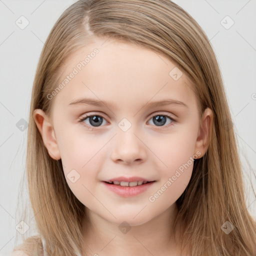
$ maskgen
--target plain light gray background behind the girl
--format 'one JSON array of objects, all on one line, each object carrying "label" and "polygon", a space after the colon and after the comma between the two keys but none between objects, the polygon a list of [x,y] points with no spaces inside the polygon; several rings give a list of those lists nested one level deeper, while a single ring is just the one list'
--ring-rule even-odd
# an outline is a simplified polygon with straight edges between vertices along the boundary
[{"label": "plain light gray background behind the girl", "polygon": [[[0,0],[0,255],[12,250],[15,226],[22,220],[16,205],[25,168],[27,129],[21,131],[16,123],[21,118],[28,121],[30,93],[43,42],[54,22],[73,2]],[[246,163],[255,172],[256,0],[174,2],[201,25],[216,53],[244,164],[246,203],[256,216],[256,200],[248,183],[251,173]],[[15,23],[21,15],[29,21],[24,29]],[[223,26],[232,22],[226,15],[234,21],[229,29]],[[251,178],[255,189],[255,179]],[[25,197],[24,202],[27,201]],[[33,220],[32,213],[30,219]],[[28,232],[33,234],[32,226]]]}]

